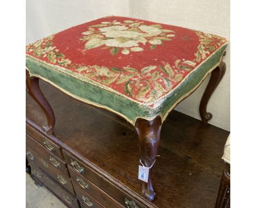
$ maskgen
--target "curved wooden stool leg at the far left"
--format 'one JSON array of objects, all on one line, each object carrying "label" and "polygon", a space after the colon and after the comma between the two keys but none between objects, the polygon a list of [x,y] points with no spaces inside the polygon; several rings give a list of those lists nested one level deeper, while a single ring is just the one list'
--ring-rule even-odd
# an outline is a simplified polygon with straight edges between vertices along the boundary
[{"label": "curved wooden stool leg at the far left", "polygon": [[31,77],[30,73],[26,70],[26,87],[27,92],[30,96],[38,103],[38,105],[42,108],[43,112],[46,115],[48,126],[44,127],[44,130],[48,134],[52,134],[54,132],[55,126],[55,116],[53,109],[51,108],[49,102],[45,99],[42,91],[39,87],[39,79],[37,77]]}]

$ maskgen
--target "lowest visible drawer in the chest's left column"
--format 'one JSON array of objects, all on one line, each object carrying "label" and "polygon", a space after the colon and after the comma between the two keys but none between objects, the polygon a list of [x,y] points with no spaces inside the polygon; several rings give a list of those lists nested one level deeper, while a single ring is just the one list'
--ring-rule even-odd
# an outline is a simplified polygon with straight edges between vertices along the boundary
[{"label": "lowest visible drawer in the chest's left column", "polygon": [[68,207],[78,208],[78,200],[71,193],[68,193],[63,189],[54,179],[43,172],[39,167],[30,163],[31,174],[36,177],[39,181],[42,181],[46,187],[54,192]]}]

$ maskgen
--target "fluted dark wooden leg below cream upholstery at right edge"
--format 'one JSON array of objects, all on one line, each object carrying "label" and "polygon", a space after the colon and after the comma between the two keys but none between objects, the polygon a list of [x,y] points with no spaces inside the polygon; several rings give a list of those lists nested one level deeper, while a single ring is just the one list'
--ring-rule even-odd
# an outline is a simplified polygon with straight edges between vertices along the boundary
[{"label": "fluted dark wooden leg below cream upholstery at right edge", "polygon": [[223,170],[220,181],[219,193],[216,201],[216,208],[230,207],[230,165]]}]

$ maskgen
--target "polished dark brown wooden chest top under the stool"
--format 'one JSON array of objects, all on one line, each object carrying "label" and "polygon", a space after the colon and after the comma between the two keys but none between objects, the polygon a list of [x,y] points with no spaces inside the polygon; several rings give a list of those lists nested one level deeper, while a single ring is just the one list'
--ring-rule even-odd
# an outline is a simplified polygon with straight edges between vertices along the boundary
[{"label": "polished dark brown wooden chest top under the stool", "polygon": [[[171,112],[161,129],[160,156],[152,172],[156,196],[149,202],[141,197],[138,140],[129,124],[75,101],[49,84],[40,82],[40,87],[51,100],[57,121],[54,133],[44,136],[129,194],[138,207],[214,207],[228,131]],[[38,126],[47,124],[45,115],[30,96],[26,109],[27,124],[44,134]]]}]

